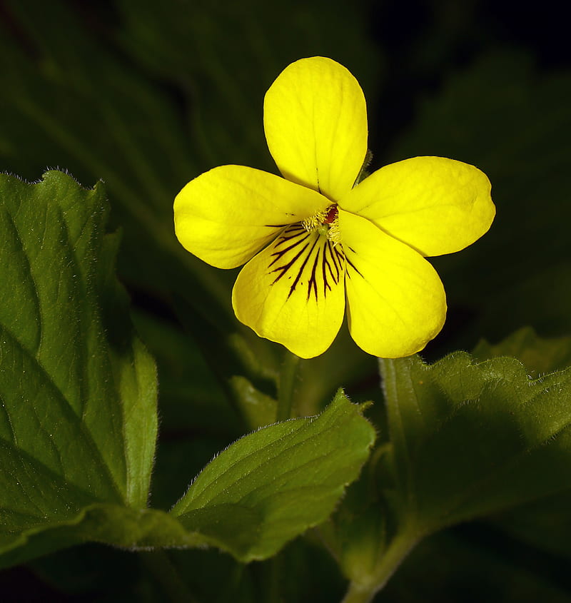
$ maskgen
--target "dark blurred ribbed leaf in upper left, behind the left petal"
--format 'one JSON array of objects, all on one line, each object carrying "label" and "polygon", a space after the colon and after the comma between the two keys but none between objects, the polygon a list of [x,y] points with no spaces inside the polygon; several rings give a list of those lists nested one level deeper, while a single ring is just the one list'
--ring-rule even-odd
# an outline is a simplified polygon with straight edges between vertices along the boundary
[{"label": "dark blurred ribbed leaf in upper left, behind the left petal", "polygon": [[196,172],[176,103],[133,69],[105,26],[94,26],[96,11],[89,21],[89,11],[82,15],[73,6],[6,3],[3,168],[34,178],[46,164],[59,165],[81,181],[102,178],[124,229],[119,259],[128,280],[153,295],[178,290],[218,322],[231,323],[224,273],[186,253],[173,233],[173,198]]}]

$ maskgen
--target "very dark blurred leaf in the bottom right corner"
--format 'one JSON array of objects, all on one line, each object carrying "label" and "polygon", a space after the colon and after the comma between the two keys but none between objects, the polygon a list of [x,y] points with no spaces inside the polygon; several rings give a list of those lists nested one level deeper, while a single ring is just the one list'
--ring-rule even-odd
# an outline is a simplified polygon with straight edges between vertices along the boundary
[{"label": "very dark blurred leaf in the bottom right corner", "polygon": [[568,566],[488,532],[469,525],[425,539],[374,602],[569,602]]}]

